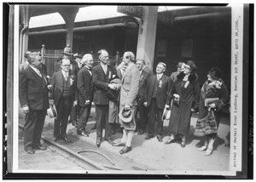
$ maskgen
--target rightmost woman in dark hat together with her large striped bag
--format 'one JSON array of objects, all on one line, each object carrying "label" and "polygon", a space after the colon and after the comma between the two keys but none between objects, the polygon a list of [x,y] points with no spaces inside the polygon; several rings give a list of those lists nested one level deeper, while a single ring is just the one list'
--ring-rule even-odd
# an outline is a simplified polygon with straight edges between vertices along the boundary
[{"label": "rightmost woman in dark hat together with her large striped bag", "polygon": [[199,116],[196,122],[195,136],[204,137],[204,145],[198,151],[206,151],[205,156],[212,154],[213,143],[218,133],[221,110],[229,103],[230,94],[220,78],[221,70],[213,67],[207,75],[207,82],[201,88]]}]

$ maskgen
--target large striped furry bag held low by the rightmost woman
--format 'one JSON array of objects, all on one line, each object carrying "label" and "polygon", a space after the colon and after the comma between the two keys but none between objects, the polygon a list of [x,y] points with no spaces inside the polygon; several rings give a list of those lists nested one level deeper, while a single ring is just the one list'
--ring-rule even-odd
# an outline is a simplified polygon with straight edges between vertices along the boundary
[{"label": "large striped furry bag held low by the rightmost woman", "polygon": [[194,132],[195,136],[202,137],[208,134],[217,134],[217,132],[217,122],[215,120],[215,116],[212,110],[208,111],[206,117],[198,119],[196,121]]}]

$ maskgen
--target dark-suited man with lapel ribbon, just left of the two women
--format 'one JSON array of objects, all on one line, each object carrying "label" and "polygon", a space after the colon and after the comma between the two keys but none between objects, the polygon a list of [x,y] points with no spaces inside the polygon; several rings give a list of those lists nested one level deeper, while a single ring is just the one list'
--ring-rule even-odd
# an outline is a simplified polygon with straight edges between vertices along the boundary
[{"label": "dark-suited man with lapel ribbon, just left of the two women", "polygon": [[166,64],[160,62],[156,66],[156,75],[148,77],[144,102],[146,107],[149,106],[148,136],[145,139],[151,139],[154,137],[154,120],[156,115],[156,138],[159,142],[163,141],[163,121],[161,117],[165,107],[166,109],[170,107],[170,97],[168,93],[172,85],[171,78],[164,75],[164,71],[166,71]]}]

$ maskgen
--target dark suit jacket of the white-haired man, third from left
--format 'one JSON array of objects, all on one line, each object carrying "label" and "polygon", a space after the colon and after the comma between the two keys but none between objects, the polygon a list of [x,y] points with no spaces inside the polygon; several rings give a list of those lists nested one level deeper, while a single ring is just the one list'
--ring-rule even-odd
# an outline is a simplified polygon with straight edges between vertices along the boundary
[{"label": "dark suit jacket of the white-haired man, third from left", "polygon": [[93,82],[92,76],[88,69],[84,66],[79,70],[78,73],[78,95],[79,95],[79,105],[84,106],[86,100],[93,99]]}]

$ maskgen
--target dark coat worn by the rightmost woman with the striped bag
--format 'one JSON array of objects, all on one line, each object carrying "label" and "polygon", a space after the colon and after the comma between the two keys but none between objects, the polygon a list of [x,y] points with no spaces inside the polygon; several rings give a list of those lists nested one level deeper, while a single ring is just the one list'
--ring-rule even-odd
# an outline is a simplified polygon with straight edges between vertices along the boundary
[{"label": "dark coat worn by the rightmost woman with the striped bag", "polygon": [[208,110],[207,106],[205,106],[206,98],[218,98],[219,100],[215,102],[216,110],[214,112],[215,120],[217,122],[217,126],[219,125],[221,119],[221,111],[225,105],[227,105],[230,101],[230,94],[228,89],[226,88],[224,82],[222,82],[221,88],[207,88],[208,81],[205,82],[201,88],[200,94],[200,102],[199,102],[199,116],[198,119],[202,119],[207,116]]}]

